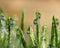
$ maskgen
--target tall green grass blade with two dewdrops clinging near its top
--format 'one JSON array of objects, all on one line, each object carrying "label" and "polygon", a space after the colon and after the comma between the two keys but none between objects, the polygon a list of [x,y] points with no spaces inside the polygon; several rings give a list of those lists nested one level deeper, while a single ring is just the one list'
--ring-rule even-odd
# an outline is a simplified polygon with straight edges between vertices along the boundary
[{"label": "tall green grass blade with two dewdrops clinging near its top", "polygon": [[36,25],[36,41],[37,41],[37,48],[40,47],[40,13],[36,12],[36,19],[34,20],[34,24]]}]

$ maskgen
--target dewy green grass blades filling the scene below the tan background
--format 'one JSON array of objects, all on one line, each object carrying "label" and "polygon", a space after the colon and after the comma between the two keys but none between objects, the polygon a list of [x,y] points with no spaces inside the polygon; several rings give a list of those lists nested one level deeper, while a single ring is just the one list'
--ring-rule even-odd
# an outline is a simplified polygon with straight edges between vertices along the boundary
[{"label": "dewy green grass blades filling the scene below the tan background", "polygon": [[[36,26],[36,34],[29,26],[27,31],[24,28],[25,13],[22,12],[21,26],[18,27],[18,21],[16,17],[10,18],[6,16],[5,11],[0,9],[0,48],[59,48],[60,41],[58,39],[58,19],[53,16],[51,39],[48,41],[48,27],[42,26],[42,32],[40,31],[40,18],[41,14],[36,12],[36,19],[34,19],[34,25]],[[31,46],[28,45],[26,40],[28,35],[30,37]]]}]

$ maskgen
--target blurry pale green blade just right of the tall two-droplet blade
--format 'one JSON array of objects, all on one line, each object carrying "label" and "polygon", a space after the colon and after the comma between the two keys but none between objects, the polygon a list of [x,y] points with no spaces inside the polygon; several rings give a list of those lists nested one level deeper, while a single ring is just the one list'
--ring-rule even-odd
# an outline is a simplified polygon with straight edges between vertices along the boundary
[{"label": "blurry pale green blade just right of the tall two-droplet blade", "polygon": [[48,38],[47,38],[47,26],[42,27],[42,37],[41,37],[41,48],[47,48]]}]

